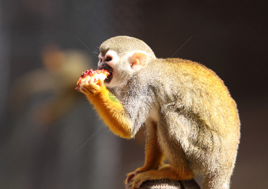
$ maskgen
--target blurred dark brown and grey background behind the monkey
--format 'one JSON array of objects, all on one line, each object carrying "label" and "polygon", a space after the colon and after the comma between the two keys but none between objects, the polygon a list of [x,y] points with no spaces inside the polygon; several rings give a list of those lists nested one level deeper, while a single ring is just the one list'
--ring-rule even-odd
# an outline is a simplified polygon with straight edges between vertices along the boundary
[{"label": "blurred dark brown and grey background behind the monkey", "polygon": [[115,35],[213,69],[242,123],[231,188],[268,188],[265,26],[261,1],[0,1],[0,188],[124,188],[143,165],[142,131],[114,136],[74,90]]}]

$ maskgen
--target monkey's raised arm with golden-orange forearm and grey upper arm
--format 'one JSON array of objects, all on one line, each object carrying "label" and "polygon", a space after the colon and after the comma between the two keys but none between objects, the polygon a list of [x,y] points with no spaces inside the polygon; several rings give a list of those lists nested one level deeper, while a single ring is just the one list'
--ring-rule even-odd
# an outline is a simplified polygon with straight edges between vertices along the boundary
[{"label": "monkey's raised arm with golden-orange forearm and grey upper arm", "polygon": [[[131,84],[129,84],[132,86]],[[80,84],[89,101],[94,105],[101,118],[112,132],[123,138],[133,138],[141,125],[146,121],[152,98],[146,95],[144,87],[129,87],[125,90],[128,98],[114,102],[109,97],[109,91],[99,80],[87,78]]]}]

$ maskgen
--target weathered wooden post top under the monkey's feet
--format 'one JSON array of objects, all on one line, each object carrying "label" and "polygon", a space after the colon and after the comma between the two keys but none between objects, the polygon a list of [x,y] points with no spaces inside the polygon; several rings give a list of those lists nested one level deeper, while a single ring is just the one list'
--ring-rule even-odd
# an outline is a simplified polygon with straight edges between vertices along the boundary
[{"label": "weathered wooden post top under the monkey's feet", "polygon": [[[128,184],[126,189],[130,189]],[[189,181],[152,180],[143,182],[140,189],[200,189],[200,187],[194,179]]]}]

